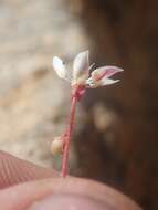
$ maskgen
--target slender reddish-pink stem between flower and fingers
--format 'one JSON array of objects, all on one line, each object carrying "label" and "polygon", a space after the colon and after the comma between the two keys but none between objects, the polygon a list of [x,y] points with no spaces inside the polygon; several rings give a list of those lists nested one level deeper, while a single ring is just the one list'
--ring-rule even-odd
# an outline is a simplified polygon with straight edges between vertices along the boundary
[{"label": "slender reddish-pink stem between flower and fingers", "polygon": [[76,95],[73,95],[72,101],[71,101],[70,123],[69,123],[67,133],[66,133],[65,141],[64,141],[62,172],[61,172],[62,177],[66,177],[66,175],[67,175],[69,151],[70,151],[71,136],[72,136],[72,130],[73,130],[73,125],[74,125],[76,102],[77,102],[77,97],[76,97]]}]

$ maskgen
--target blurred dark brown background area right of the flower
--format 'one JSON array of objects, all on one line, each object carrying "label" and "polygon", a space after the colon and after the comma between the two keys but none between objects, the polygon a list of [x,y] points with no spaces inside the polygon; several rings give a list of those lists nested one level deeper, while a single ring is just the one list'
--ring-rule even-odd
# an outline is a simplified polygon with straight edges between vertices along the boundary
[{"label": "blurred dark brown background area right of the flower", "polygon": [[[158,209],[158,2],[72,1],[96,63],[125,72],[117,86],[88,92],[89,120],[77,136],[82,176],[117,187],[145,209]],[[75,10],[78,8],[80,10]],[[73,8],[72,7],[72,8]],[[72,9],[73,10],[73,9]],[[102,108],[96,109],[98,104]],[[94,114],[95,113],[95,114]],[[115,116],[102,129],[95,123]]]}]

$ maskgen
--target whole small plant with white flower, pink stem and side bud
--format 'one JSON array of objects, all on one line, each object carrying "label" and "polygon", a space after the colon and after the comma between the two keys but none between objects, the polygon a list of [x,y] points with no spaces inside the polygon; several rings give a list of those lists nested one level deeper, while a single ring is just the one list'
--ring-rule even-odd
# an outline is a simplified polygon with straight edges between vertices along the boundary
[{"label": "whole small plant with white flower, pink stem and side bud", "polygon": [[61,171],[62,177],[66,177],[67,175],[69,150],[77,102],[81,101],[82,96],[85,94],[86,88],[95,88],[117,83],[119,80],[112,80],[109,77],[118,72],[124,71],[123,69],[107,65],[95,69],[92,73],[89,73],[89,70],[93,66],[94,64],[89,65],[88,51],[81,52],[76,55],[74,59],[72,72],[66,70],[64,62],[60,57],[53,57],[53,67],[56,74],[61,78],[69,81],[72,87],[71,113],[66,130],[62,136],[55,137],[52,141],[52,153],[54,155],[63,155]]}]

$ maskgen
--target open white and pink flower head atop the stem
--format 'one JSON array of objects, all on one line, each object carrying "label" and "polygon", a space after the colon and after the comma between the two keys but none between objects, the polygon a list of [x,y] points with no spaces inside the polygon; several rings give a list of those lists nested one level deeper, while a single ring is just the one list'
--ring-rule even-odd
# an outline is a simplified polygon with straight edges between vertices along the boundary
[{"label": "open white and pink flower head atop the stem", "polygon": [[88,88],[115,84],[119,80],[112,80],[109,77],[124,71],[120,67],[107,65],[98,67],[89,74],[92,66],[88,61],[88,51],[81,52],[76,55],[73,63],[72,75],[70,75],[64,62],[60,57],[53,57],[53,67],[61,78],[69,80],[72,85]]}]

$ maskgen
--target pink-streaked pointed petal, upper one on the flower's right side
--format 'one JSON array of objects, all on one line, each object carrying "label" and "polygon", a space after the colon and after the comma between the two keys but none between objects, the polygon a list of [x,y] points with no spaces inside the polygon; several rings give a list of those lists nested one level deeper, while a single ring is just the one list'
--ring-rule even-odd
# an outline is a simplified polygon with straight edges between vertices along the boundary
[{"label": "pink-streaked pointed petal, upper one on the flower's right side", "polygon": [[120,67],[107,65],[107,66],[103,66],[103,67],[98,67],[98,69],[94,70],[92,72],[91,78],[95,82],[95,81],[99,81],[104,77],[107,78],[107,77],[113,76],[114,74],[116,74],[118,72],[123,72],[123,71],[124,70]]}]

